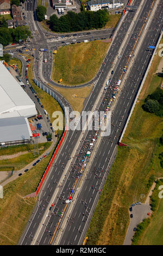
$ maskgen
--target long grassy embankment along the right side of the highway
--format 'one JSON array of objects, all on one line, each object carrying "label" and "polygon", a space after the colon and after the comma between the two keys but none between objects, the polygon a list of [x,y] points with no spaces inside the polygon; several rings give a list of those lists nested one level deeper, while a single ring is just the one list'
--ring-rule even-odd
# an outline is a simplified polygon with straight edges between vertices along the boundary
[{"label": "long grassy embankment along the right side of the highway", "polygon": [[162,176],[158,159],[162,147],[158,141],[163,120],[144,112],[141,107],[146,96],[162,82],[162,78],[155,74],[160,59],[156,54],[123,137],[128,147],[118,147],[116,160],[86,234],[89,236],[87,245],[122,245],[130,221],[130,204],[145,202],[149,176]]}]

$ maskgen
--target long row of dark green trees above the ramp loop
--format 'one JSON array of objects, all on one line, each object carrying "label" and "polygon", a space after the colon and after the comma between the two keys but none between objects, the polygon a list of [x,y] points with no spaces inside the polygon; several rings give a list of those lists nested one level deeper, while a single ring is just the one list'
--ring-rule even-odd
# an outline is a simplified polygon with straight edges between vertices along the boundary
[{"label": "long row of dark green trees above the ramp loop", "polygon": [[109,14],[106,10],[82,11],[78,14],[68,11],[66,15],[61,16],[59,19],[57,15],[53,14],[48,23],[52,31],[75,32],[92,28],[102,28],[108,19]]}]

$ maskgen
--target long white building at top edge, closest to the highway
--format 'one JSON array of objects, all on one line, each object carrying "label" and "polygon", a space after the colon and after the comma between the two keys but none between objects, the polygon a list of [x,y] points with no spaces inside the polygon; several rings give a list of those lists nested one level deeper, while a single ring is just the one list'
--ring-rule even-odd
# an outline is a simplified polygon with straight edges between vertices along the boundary
[{"label": "long white building at top edge, closest to the highway", "polygon": [[91,0],[87,4],[87,8],[91,11],[98,11],[103,9],[114,9],[123,7],[123,3],[118,0]]}]

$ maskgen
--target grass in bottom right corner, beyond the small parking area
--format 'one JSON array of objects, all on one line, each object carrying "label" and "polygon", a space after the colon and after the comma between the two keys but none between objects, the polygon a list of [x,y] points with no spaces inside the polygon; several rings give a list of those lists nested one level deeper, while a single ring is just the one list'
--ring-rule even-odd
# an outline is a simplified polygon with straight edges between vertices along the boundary
[{"label": "grass in bottom right corner, beyond the small parking area", "polygon": [[162,181],[157,181],[152,193],[151,198],[154,200],[151,201],[151,204],[154,204],[152,217],[145,219],[137,226],[132,245],[162,245],[163,243],[163,200],[158,197],[160,192],[158,188],[163,184]]}]

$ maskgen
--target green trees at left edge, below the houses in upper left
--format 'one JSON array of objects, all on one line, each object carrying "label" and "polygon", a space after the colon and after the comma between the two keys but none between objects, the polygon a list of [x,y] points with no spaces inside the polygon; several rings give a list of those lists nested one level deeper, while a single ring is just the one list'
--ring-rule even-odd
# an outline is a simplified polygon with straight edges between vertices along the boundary
[{"label": "green trees at left edge, below the houses in upper left", "polygon": [[7,46],[12,42],[19,42],[27,40],[31,35],[27,26],[17,27],[15,29],[8,27],[0,27],[0,44]]}]

